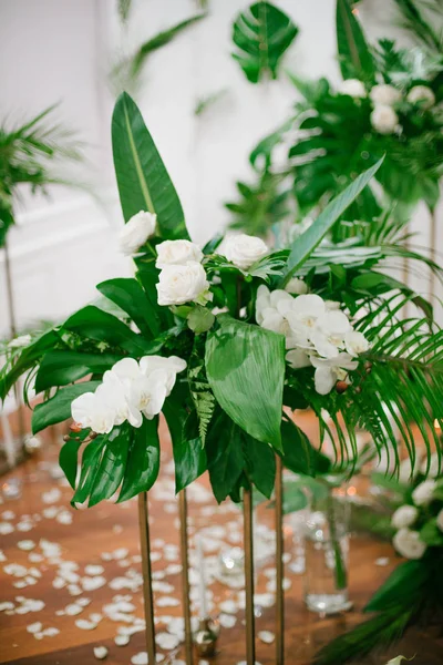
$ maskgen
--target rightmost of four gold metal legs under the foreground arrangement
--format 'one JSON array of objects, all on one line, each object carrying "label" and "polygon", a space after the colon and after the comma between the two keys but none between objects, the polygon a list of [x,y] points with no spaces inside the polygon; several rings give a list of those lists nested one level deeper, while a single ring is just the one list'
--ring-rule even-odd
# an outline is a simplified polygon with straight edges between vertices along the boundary
[{"label": "rightmost of four gold metal legs under the foreground arrangement", "polygon": [[276,665],[285,662],[284,488],[281,458],[276,456]]}]

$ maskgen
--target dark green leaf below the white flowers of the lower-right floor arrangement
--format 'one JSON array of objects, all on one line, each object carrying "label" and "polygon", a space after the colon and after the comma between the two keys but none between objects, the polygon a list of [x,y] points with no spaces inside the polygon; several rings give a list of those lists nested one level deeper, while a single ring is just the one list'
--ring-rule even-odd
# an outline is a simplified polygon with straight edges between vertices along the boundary
[{"label": "dark green leaf below the white flowers of the lower-right floor arrangement", "polygon": [[427,576],[427,565],[423,561],[400,564],[373,594],[363,612],[384,612],[404,603],[413,605]]}]

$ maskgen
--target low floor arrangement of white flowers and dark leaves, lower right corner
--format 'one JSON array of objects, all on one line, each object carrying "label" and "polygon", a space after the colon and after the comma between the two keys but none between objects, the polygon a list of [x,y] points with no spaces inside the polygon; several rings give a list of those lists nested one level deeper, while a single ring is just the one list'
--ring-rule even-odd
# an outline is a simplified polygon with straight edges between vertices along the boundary
[{"label": "low floor arrangement of white flowers and dark leaves, lower right corner", "polygon": [[[393,507],[392,544],[406,561],[399,564],[364,607],[364,612],[374,616],[324,646],[315,661],[319,665],[362,657],[375,645],[399,640],[414,625],[440,625],[443,615],[443,478],[440,467],[437,457],[425,460],[411,482],[378,475],[377,481],[389,490]],[[371,513],[370,509],[368,512],[371,514],[369,529],[379,533],[379,514]],[[385,533],[387,529],[383,535]]]}]

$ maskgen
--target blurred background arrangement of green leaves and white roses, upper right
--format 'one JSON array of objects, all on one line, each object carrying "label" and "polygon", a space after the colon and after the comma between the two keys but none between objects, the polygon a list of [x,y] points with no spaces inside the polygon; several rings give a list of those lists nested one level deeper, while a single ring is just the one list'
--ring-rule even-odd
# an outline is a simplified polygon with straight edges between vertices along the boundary
[{"label": "blurred background arrangement of green leaves and white roses, upper right", "polygon": [[[290,74],[302,99],[250,153],[256,183],[239,183],[241,198],[228,204],[236,228],[265,234],[270,219],[274,228],[302,221],[383,154],[375,175],[381,188],[364,188],[344,218],[371,224],[394,205],[405,222],[419,201],[433,214],[443,154],[442,52],[399,49],[387,39],[370,45],[349,0],[337,0],[337,41],[338,88]],[[337,227],[336,239],[349,235],[351,226]]]}]

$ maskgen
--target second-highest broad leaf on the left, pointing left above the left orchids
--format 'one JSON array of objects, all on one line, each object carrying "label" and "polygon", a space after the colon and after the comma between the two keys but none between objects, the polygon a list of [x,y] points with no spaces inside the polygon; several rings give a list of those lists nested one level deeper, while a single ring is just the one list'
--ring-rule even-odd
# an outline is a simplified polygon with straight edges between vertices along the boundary
[{"label": "second-highest broad leaf on the left, pointing left above the left orchids", "polygon": [[146,339],[131,330],[123,321],[93,305],[87,305],[73,314],[63,324],[63,328],[85,339],[95,339],[120,347],[134,356],[148,354],[152,348]]}]

